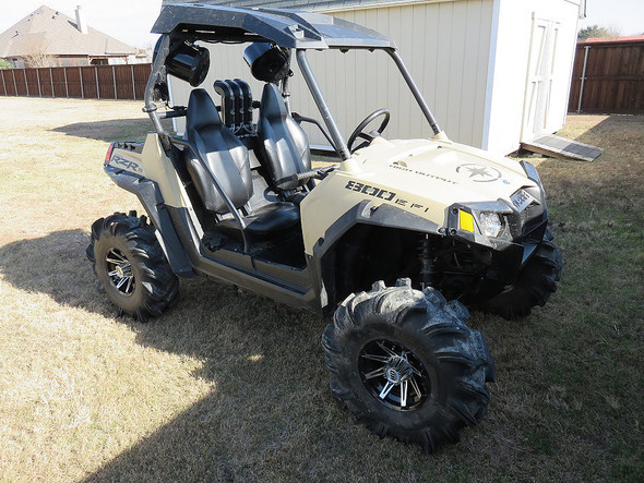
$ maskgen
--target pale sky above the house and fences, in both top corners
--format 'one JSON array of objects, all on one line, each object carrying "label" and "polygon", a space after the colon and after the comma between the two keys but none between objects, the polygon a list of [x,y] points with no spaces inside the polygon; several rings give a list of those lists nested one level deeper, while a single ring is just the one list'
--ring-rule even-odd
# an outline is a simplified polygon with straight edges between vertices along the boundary
[{"label": "pale sky above the house and fences, in both top corners", "polygon": [[[4,0],[2,3],[0,33],[43,4],[72,19],[76,5],[81,4],[91,27],[133,47],[147,47],[156,40],[150,29],[162,0]],[[644,0],[587,0],[587,19],[580,21],[580,28],[594,24],[613,28],[621,35],[643,34]]]}]

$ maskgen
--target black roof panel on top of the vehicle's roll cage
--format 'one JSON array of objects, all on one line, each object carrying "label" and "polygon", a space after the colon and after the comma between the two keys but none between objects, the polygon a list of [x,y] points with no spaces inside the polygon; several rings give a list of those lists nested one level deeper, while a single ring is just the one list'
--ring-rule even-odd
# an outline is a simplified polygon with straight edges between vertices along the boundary
[{"label": "black roof panel on top of the vehicle's roll cage", "polygon": [[206,32],[217,40],[266,39],[297,49],[395,48],[392,39],[370,28],[321,13],[289,9],[176,3],[162,8],[152,32],[169,34],[177,27]]}]

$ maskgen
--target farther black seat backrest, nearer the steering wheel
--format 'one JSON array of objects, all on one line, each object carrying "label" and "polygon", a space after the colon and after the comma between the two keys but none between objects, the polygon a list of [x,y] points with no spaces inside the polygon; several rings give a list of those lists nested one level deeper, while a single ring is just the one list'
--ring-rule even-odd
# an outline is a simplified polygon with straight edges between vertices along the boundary
[{"label": "farther black seat backrest, nearer the steering wheel", "polygon": [[307,182],[298,182],[293,176],[311,170],[309,138],[288,113],[279,88],[273,83],[266,83],[262,92],[258,136],[270,182],[276,190],[295,190]]}]

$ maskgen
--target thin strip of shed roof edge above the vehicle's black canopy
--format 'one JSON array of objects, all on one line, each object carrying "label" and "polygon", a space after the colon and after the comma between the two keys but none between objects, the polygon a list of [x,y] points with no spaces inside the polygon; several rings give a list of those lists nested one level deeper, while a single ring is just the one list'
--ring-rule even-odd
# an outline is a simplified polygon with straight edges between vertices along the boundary
[{"label": "thin strip of shed roof edge above the vehicle's black canopy", "polygon": [[[186,0],[183,0],[186,1]],[[196,0],[194,3],[208,3],[220,7],[238,8],[270,8],[270,9],[301,9],[309,11],[331,11],[342,9],[355,9],[360,7],[389,5],[395,3],[408,3],[409,0]],[[181,3],[181,0],[163,0],[164,5]]]}]

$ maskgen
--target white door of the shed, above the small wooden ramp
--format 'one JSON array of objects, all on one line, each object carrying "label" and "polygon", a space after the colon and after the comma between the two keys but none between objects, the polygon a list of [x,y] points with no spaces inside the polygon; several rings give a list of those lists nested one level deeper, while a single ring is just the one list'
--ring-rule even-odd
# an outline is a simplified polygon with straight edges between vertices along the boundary
[{"label": "white door of the shed, above the small wooden ramp", "polygon": [[533,16],[521,141],[550,132],[548,114],[558,37],[559,22]]}]

